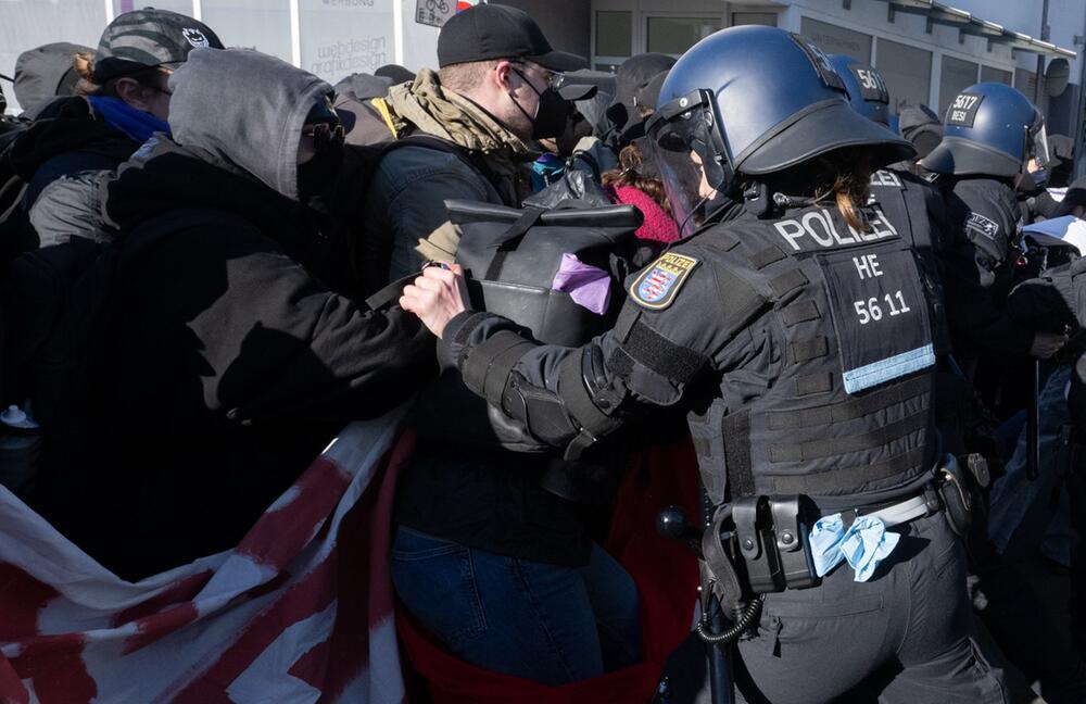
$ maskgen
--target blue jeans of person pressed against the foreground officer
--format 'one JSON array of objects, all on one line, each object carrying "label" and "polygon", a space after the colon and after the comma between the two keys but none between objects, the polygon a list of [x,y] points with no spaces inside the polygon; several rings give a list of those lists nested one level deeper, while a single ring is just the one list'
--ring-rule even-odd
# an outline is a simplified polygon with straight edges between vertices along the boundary
[{"label": "blue jeans of person pressed against the foreground officer", "polygon": [[597,545],[584,567],[495,555],[401,526],[392,582],[460,659],[558,686],[640,662],[637,589]]}]

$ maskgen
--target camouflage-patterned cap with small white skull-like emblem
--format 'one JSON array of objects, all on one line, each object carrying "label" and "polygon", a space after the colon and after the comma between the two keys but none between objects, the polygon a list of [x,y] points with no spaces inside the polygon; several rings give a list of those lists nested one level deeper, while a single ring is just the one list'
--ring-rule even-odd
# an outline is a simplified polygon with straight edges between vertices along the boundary
[{"label": "camouflage-patterned cap with small white skull-like emblem", "polygon": [[94,52],[94,81],[151,66],[176,68],[201,47],[222,49],[223,42],[198,20],[154,8],[126,12],[102,33]]}]

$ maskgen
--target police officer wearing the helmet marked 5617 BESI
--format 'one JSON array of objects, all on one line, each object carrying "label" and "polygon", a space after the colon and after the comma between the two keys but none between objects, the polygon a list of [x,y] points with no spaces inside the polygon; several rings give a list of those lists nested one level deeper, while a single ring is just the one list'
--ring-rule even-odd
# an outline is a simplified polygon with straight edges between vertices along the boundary
[{"label": "police officer wearing the helmet marked 5617 BESI", "polygon": [[982,355],[1047,359],[1066,336],[1034,331],[1003,313],[1023,226],[1015,186],[1031,160],[1048,161],[1045,120],[1021,92],[997,83],[965,88],[947,109],[943,141],[922,166],[940,174],[949,241],[948,319],[963,364]]}]

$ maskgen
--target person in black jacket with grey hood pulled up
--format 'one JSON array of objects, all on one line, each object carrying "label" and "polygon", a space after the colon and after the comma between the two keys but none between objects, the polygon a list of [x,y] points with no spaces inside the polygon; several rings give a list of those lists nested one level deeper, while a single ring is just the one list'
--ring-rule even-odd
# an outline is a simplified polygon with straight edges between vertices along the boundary
[{"label": "person in black jacket with grey hood pulled up", "polygon": [[[173,138],[119,169],[119,235],[77,285],[81,355],[36,503],[136,579],[237,544],[351,419],[409,398],[432,338],[329,291],[305,202],[334,176],[331,87],[254,51],[193,51]],[[316,271],[315,271],[316,269]]]}]

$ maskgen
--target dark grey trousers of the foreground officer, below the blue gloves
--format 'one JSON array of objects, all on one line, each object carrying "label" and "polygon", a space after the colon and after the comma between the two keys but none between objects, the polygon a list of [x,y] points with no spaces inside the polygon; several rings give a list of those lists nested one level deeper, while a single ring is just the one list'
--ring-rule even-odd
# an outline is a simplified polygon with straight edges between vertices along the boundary
[{"label": "dark grey trousers of the foreground officer, below the blue gloves", "polygon": [[843,562],[820,587],[766,595],[738,642],[737,702],[1010,702],[973,639],[965,553],[943,513],[889,530],[901,541],[867,582]]}]

